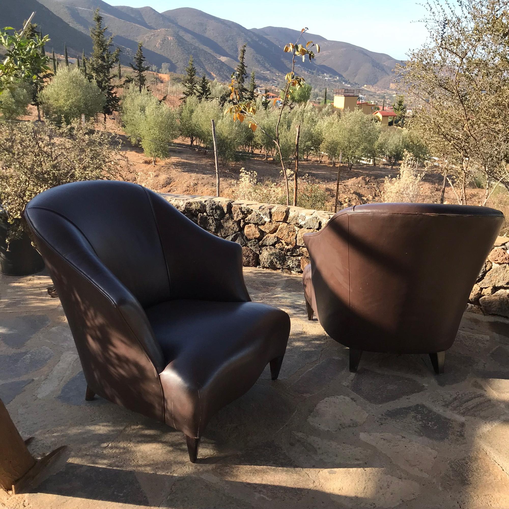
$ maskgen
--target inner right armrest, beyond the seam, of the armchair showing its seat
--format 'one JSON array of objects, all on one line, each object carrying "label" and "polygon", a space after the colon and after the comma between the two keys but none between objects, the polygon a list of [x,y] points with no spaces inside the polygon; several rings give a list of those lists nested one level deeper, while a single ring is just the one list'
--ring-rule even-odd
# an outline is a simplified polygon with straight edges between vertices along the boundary
[{"label": "inner right armrest, beyond the seam, of the armchair showing its seat", "polygon": [[203,230],[149,193],[165,253],[172,298],[247,302],[242,248]]}]

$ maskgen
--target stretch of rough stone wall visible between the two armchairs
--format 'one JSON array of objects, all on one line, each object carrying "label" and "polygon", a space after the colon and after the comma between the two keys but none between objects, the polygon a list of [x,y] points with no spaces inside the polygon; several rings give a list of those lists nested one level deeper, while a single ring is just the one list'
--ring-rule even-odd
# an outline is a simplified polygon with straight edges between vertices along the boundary
[{"label": "stretch of rough stone wall visible between the two armchairs", "polygon": [[205,230],[240,244],[246,267],[302,272],[309,263],[302,236],[322,229],[333,215],[211,196],[161,196]]}]

